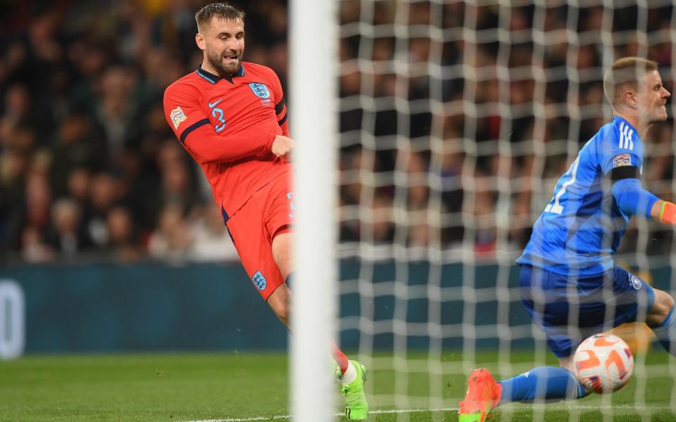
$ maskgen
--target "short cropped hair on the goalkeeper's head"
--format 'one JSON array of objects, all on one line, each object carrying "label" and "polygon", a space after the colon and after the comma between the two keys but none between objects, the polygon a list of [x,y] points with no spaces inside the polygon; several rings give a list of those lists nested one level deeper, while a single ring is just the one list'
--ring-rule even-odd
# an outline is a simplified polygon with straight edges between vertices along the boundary
[{"label": "short cropped hair on the goalkeeper's head", "polygon": [[620,103],[622,91],[630,87],[639,89],[639,77],[647,72],[657,70],[658,64],[653,60],[641,57],[623,57],[615,60],[610,69],[603,75],[603,91],[611,106]]}]

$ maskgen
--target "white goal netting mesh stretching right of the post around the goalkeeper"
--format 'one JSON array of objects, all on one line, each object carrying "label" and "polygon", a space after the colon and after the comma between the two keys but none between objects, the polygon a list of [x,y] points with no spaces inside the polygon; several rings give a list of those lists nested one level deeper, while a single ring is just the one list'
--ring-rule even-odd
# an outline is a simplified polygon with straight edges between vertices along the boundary
[{"label": "white goal netting mesh stretching right of the post around the goalkeeper", "polygon": [[[340,329],[372,369],[373,407],[456,407],[479,364],[504,377],[552,363],[514,259],[611,120],[603,71],[651,58],[672,91],[675,28],[671,1],[341,2]],[[644,183],[671,200],[672,120],[644,141]],[[671,239],[634,219],[616,262],[670,290]],[[650,404],[651,376],[676,376],[654,353],[637,354],[632,406]]]}]

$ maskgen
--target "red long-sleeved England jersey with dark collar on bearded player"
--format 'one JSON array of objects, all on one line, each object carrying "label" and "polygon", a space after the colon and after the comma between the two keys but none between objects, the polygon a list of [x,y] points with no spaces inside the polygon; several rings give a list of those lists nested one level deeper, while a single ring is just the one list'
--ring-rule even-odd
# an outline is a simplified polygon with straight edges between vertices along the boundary
[{"label": "red long-sleeved England jersey with dark collar on bearded player", "polygon": [[269,181],[291,177],[292,165],[270,151],[275,136],[289,136],[282,85],[270,68],[242,62],[220,77],[200,67],[165,90],[164,114],[227,215]]}]

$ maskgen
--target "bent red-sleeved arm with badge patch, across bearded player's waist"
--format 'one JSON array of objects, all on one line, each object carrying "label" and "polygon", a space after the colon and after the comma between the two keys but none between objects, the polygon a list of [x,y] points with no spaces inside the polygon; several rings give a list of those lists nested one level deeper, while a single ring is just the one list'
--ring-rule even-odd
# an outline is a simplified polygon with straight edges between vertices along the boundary
[{"label": "bent red-sleeved arm with badge patch, across bearded player's waist", "polygon": [[201,107],[201,96],[189,84],[172,84],[164,93],[164,113],[174,134],[200,162],[232,162],[272,151],[280,132],[277,122],[256,131],[217,134]]}]

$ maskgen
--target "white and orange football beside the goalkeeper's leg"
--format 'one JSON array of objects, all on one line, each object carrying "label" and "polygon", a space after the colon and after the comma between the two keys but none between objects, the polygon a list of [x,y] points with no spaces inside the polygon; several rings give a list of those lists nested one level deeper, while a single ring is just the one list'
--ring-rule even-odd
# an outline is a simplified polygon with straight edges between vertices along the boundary
[{"label": "white and orange football beside the goalkeeper's leg", "polygon": [[634,357],[615,335],[596,334],[577,347],[573,357],[577,379],[597,394],[620,390],[632,378]]}]

